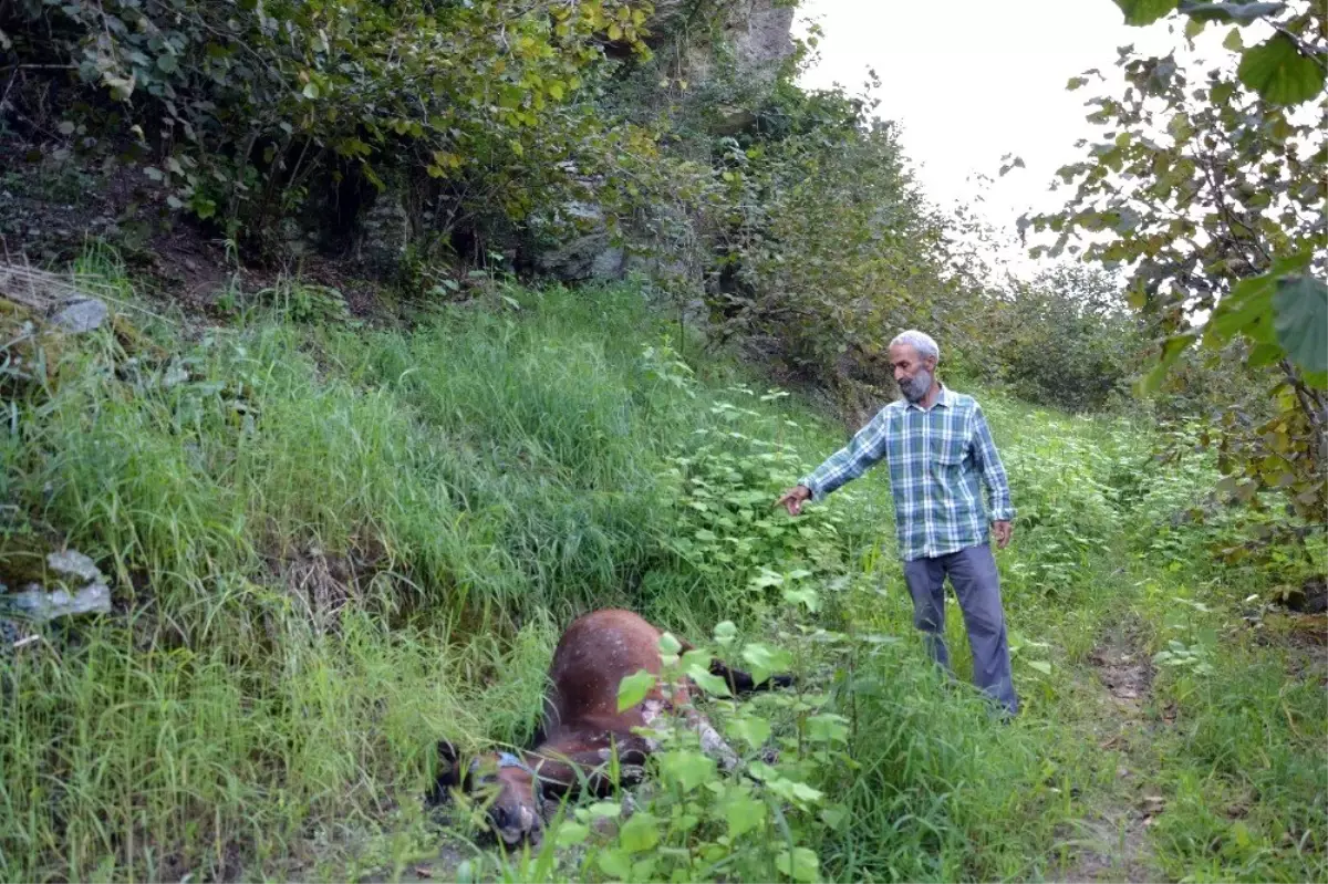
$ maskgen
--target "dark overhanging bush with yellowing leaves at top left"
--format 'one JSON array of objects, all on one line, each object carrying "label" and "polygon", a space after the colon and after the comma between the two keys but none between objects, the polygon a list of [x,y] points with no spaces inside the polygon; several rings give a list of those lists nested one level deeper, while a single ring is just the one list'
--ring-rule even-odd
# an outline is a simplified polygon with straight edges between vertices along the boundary
[{"label": "dark overhanging bush with yellowing leaves at top left", "polygon": [[309,212],[323,227],[353,220],[394,183],[448,240],[477,218],[521,220],[570,196],[564,161],[611,154],[580,94],[607,41],[645,50],[648,11],[28,0],[0,5],[0,37],[13,35],[0,46],[32,73],[70,69],[53,104],[37,86],[24,102],[33,133],[127,157],[171,210],[231,236],[270,246]]}]

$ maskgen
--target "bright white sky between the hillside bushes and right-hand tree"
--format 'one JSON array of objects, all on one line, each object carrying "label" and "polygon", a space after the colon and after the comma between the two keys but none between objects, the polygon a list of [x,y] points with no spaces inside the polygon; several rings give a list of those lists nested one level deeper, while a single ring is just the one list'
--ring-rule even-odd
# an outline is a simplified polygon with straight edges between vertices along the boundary
[{"label": "bright white sky between the hillside bushes and right-hand tree", "polygon": [[[1112,0],[805,0],[798,15],[799,33],[807,20],[823,31],[802,85],[857,93],[874,69],[876,115],[900,123],[927,196],[942,208],[980,196],[976,210],[1011,238],[1020,214],[1064,204],[1048,187],[1081,158],[1074,142],[1096,134],[1084,119],[1092,89],[1066,92],[1066,81],[1101,68],[1118,82],[1118,46],[1166,53],[1181,42],[1166,24],[1126,27]],[[1027,169],[999,178],[1005,154]],[[980,187],[977,174],[993,183]],[[1036,269],[1011,242],[1016,269]]]}]

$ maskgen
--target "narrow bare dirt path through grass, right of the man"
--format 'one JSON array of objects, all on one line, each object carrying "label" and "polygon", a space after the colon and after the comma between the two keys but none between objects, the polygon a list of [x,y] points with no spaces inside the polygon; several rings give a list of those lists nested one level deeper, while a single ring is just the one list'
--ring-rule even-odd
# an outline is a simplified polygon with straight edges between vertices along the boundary
[{"label": "narrow bare dirt path through grass, right of the man", "polygon": [[1073,860],[1048,880],[1061,884],[1163,880],[1153,865],[1147,835],[1165,800],[1149,787],[1151,729],[1145,711],[1153,689],[1153,664],[1141,646],[1130,629],[1117,628],[1089,656],[1106,722],[1105,739],[1098,747],[1120,755],[1117,788],[1068,832],[1062,844]]}]

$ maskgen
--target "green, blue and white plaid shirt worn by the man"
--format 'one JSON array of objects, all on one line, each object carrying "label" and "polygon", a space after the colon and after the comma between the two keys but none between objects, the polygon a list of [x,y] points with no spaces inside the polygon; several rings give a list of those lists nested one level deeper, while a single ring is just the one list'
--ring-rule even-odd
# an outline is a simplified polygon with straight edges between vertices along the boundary
[{"label": "green, blue and white plaid shirt worn by the man", "polygon": [[890,463],[895,534],[904,561],[987,543],[979,480],[991,492],[992,522],[1015,518],[1005,469],[971,396],[942,386],[928,410],[903,400],[891,402],[799,484],[821,500],[882,458]]}]

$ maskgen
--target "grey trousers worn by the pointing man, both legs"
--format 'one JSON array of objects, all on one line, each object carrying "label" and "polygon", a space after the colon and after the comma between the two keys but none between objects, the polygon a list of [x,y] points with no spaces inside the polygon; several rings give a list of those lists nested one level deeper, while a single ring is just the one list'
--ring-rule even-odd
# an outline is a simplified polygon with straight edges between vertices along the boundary
[{"label": "grey trousers worn by the pointing man, both legs", "polygon": [[914,625],[923,632],[935,661],[948,670],[950,650],[944,638],[947,576],[959,596],[959,609],[968,628],[973,681],[1007,711],[1017,713],[1019,697],[1011,680],[1009,641],[1000,604],[1000,575],[991,544],[904,563],[904,583],[914,600]]}]

